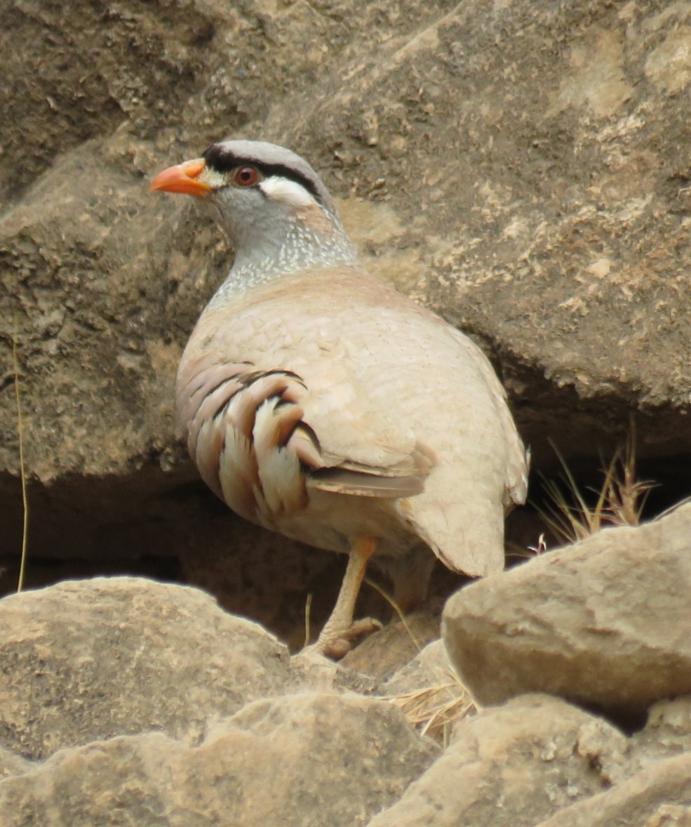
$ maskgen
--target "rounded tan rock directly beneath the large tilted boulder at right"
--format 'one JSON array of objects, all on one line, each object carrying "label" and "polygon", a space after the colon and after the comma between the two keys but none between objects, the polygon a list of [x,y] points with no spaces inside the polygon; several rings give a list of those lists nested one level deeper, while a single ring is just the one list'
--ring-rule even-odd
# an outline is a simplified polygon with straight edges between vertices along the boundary
[{"label": "rounded tan rock directly beneath the large tilted boulder at right", "polygon": [[612,782],[626,739],[548,696],[523,696],[457,724],[453,743],[369,827],[534,827]]}]

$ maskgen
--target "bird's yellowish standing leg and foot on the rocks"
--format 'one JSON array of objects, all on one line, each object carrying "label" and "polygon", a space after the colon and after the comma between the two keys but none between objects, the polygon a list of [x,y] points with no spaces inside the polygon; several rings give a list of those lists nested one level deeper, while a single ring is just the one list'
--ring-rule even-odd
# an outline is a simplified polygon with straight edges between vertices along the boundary
[{"label": "bird's yellowish standing leg and foot on the rocks", "polygon": [[348,556],[346,574],[343,576],[336,605],[330,618],[326,621],[322,633],[317,638],[317,643],[314,644],[317,652],[321,652],[328,657],[343,657],[350,649],[350,640],[359,637],[361,634],[374,632],[375,629],[381,628],[379,621],[371,618],[353,622],[355,600],[357,600],[360,584],[367,570],[369,557],[372,557],[376,547],[377,540],[374,537],[353,540]]}]

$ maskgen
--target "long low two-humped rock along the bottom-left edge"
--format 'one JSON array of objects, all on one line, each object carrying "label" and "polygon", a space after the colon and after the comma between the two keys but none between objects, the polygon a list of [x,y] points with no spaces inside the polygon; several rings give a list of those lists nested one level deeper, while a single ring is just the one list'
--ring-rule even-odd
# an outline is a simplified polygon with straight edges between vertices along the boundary
[{"label": "long low two-humped rock along the bottom-left edge", "polygon": [[0,782],[0,822],[355,827],[396,801],[435,754],[382,700],[259,700],[197,747],[155,733],[63,749]]}]

